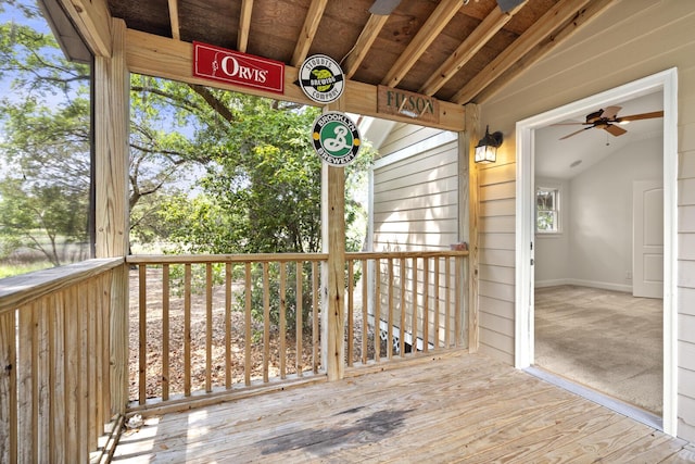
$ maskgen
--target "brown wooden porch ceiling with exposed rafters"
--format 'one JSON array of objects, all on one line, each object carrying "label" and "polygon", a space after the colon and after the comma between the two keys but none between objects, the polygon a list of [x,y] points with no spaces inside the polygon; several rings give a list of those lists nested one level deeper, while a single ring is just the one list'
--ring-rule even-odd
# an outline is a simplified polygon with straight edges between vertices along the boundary
[{"label": "brown wooden porch ceiling with exposed rafters", "polygon": [[[130,29],[299,66],[327,54],[345,76],[481,103],[609,0],[109,0]],[[510,9],[503,12],[502,9]]]}]

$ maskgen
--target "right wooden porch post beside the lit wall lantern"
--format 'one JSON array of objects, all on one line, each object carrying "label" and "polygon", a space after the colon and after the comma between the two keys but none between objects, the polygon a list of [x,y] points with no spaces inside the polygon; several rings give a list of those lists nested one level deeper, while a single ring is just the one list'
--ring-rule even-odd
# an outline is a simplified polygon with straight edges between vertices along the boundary
[{"label": "right wooden porch post beside the lit wall lantern", "polygon": [[[480,343],[478,306],[478,166],[475,162],[476,145],[480,138],[480,108],[468,103],[466,109],[466,131],[459,139],[465,155],[462,168],[468,174],[468,351],[475,353]],[[460,208],[465,208],[463,201]]]}]

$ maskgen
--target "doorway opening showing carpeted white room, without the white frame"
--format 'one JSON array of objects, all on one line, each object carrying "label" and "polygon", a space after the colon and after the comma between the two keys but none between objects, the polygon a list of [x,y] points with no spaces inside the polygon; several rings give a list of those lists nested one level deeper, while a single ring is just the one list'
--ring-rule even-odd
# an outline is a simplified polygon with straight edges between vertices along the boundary
[{"label": "doorway opening showing carpeted white room, without the white frame", "polygon": [[620,130],[584,117],[536,129],[534,151],[534,365],[659,418],[662,106],[658,90],[610,106],[652,116]]}]

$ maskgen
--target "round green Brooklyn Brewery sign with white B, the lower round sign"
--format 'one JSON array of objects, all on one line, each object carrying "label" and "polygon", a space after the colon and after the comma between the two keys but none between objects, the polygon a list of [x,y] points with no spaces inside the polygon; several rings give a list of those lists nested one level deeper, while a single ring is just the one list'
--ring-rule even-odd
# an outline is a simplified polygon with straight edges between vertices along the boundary
[{"label": "round green Brooklyn Brewery sign with white B, the lower round sign", "polygon": [[337,111],[324,113],[314,121],[312,141],[321,160],[333,166],[352,163],[362,143],[355,123]]}]

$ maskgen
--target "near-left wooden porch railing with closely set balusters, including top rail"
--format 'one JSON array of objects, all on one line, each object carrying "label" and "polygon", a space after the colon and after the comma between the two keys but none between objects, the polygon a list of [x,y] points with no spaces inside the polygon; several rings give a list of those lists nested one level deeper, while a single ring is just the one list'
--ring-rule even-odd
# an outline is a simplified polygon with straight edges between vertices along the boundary
[{"label": "near-left wooden porch railing with closely set balusters, including top rail", "polygon": [[122,258],[89,260],[0,280],[0,462],[87,462],[100,448],[124,272]]}]

